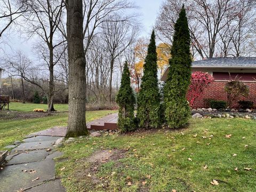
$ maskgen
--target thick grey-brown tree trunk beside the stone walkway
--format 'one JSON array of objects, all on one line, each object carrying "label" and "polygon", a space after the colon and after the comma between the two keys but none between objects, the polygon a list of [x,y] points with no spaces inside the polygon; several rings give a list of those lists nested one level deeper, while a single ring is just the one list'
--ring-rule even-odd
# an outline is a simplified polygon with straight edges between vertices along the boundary
[{"label": "thick grey-brown tree trunk beside the stone walkway", "polygon": [[88,134],[85,122],[86,82],[83,45],[83,1],[66,0],[68,40],[68,130],[66,137]]}]

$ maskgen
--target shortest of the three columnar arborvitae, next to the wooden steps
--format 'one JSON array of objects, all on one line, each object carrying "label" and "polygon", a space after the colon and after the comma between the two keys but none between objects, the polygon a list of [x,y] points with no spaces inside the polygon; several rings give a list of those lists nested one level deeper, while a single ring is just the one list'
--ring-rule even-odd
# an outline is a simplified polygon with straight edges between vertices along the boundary
[{"label": "shortest of the three columnar arborvitae, next to the wooden steps", "polygon": [[118,111],[118,127],[122,132],[133,131],[134,124],[134,105],[135,97],[131,87],[130,71],[127,61],[124,63],[123,76],[121,86],[116,97],[119,106]]}]

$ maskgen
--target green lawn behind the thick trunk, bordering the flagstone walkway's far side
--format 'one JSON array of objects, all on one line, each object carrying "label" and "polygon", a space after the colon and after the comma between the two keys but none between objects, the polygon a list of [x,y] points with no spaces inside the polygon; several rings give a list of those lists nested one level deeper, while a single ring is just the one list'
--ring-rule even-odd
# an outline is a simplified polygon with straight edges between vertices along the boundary
[{"label": "green lawn behind the thick trunk, bordering the flagstone walkway's far side", "polygon": [[[25,104],[28,105],[28,104]],[[116,111],[87,111],[86,121],[100,118]],[[15,140],[21,140],[29,133],[49,129],[53,126],[66,126],[68,121],[67,113],[58,113],[51,116],[29,119],[6,119],[0,122],[0,149],[13,143]]]}]

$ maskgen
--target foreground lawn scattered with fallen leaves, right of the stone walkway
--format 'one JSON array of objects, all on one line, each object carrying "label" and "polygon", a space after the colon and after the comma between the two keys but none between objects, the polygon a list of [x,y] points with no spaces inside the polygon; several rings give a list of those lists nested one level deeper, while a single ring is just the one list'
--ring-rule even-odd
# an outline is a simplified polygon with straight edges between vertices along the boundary
[{"label": "foreground lawn scattered with fallen leaves, right of the stone walkway", "polygon": [[[255,127],[255,121],[246,119],[191,119],[182,130],[78,139],[60,148],[64,155],[56,171],[67,191],[252,192],[256,191]],[[98,167],[86,161],[103,149],[123,149],[124,157]],[[212,185],[213,179],[219,185]]]}]

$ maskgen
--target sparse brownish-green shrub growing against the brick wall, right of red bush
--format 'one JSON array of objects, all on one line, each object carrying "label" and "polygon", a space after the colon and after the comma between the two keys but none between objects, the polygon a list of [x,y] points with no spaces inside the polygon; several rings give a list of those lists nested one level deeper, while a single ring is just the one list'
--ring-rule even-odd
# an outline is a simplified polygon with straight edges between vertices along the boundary
[{"label": "sparse brownish-green shrub growing against the brick wall, right of red bush", "polygon": [[241,97],[247,97],[249,95],[249,87],[243,82],[239,81],[236,77],[234,80],[227,82],[225,85],[225,91],[227,92],[228,106],[232,107],[233,102]]}]

